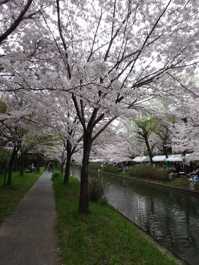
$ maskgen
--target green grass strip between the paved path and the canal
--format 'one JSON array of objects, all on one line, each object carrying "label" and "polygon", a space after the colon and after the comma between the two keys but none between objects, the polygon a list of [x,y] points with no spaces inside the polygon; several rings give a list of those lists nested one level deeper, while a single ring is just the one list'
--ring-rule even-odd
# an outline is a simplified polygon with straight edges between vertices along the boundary
[{"label": "green grass strip between the paved path and the canal", "polygon": [[64,265],[176,264],[104,200],[90,202],[89,215],[78,214],[79,180],[63,185],[59,175],[53,182]]}]

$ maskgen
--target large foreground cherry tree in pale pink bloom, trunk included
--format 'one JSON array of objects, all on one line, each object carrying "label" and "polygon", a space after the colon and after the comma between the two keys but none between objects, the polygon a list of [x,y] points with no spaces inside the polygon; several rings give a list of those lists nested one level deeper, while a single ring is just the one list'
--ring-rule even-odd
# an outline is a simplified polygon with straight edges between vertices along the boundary
[{"label": "large foreground cherry tree in pale pink bloom, trunk included", "polygon": [[194,72],[197,6],[196,0],[57,0],[47,16],[39,13],[42,31],[24,29],[15,52],[2,47],[2,91],[48,90],[73,100],[84,132],[79,213],[88,214],[92,142],[115,118],[135,118],[146,101],[176,95],[183,69]]}]

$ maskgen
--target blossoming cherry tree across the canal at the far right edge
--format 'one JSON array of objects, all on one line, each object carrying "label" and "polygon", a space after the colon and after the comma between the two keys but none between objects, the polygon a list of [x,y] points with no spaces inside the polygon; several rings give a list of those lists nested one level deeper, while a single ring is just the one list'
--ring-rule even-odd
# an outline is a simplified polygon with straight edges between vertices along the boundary
[{"label": "blossoming cherry tree across the canal at the far right edge", "polygon": [[[176,77],[178,80],[178,77]],[[167,111],[171,116],[175,115],[177,120],[172,126],[172,146],[182,152],[185,176],[189,169],[187,153],[192,153],[190,159],[197,160],[198,152],[198,78],[187,73],[183,75],[180,95],[172,100],[172,107]],[[187,88],[189,88],[187,90]],[[189,160],[190,160],[189,159]]]}]

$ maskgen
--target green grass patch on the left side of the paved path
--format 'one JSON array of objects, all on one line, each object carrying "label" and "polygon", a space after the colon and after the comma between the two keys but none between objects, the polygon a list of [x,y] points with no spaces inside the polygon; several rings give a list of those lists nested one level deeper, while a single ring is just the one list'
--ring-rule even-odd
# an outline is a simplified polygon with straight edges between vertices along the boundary
[{"label": "green grass patch on the left side of the paved path", "polygon": [[34,174],[24,173],[24,176],[20,177],[19,172],[13,172],[11,186],[3,186],[4,175],[0,175],[0,225],[23,199],[26,192],[28,192],[40,175],[40,172]]}]

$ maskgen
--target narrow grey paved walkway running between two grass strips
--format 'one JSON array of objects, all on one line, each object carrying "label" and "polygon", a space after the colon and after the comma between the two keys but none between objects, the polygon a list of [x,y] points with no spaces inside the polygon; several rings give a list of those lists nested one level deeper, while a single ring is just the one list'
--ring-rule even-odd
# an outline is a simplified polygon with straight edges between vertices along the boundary
[{"label": "narrow grey paved walkway running between two grass strips", "polygon": [[0,228],[0,265],[57,265],[51,173],[45,171]]}]

